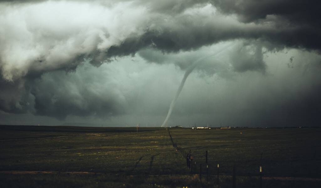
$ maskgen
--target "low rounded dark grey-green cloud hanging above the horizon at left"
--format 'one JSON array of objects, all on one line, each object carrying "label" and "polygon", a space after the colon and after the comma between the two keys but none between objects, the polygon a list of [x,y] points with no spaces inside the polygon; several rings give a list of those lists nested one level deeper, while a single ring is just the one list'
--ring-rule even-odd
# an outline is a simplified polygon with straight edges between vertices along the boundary
[{"label": "low rounded dark grey-green cloud hanging above the horizon at left", "polygon": [[[106,89],[103,78],[90,74],[80,77],[63,72],[46,74],[32,87],[35,115],[65,119],[67,115],[115,116],[124,113],[125,98],[117,88]],[[91,85],[86,82],[91,80]],[[95,87],[100,85],[100,87]],[[109,83],[109,87],[113,84]]]}]

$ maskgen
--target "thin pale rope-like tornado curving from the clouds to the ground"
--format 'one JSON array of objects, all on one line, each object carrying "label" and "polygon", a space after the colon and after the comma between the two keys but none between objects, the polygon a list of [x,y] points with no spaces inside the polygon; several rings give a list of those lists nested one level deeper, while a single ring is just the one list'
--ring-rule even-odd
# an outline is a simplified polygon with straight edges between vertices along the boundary
[{"label": "thin pale rope-like tornado curving from the clouds to the ground", "polygon": [[175,102],[176,102],[176,100],[177,100],[180,92],[181,92],[182,89],[183,89],[183,86],[184,86],[184,84],[185,84],[185,81],[186,81],[187,77],[189,76],[189,74],[192,73],[192,71],[194,70],[194,68],[196,67],[196,65],[197,65],[199,62],[204,61],[205,59],[207,59],[207,58],[209,58],[209,57],[218,55],[219,53],[221,53],[222,51],[224,51],[224,50],[226,50],[227,48],[231,47],[232,45],[233,45],[233,43],[230,43],[230,44],[226,45],[225,47],[223,47],[221,50],[217,51],[217,52],[214,53],[214,54],[211,54],[211,55],[209,55],[209,56],[204,56],[204,57],[199,58],[197,61],[195,61],[193,64],[191,64],[191,65],[187,68],[187,70],[186,70],[186,72],[185,72],[185,74],[184,74],[184,77],[183,77],[183,79],[182,79],[182,81],[181,81],[181,83],[180,83],[180,85],[179,85],[179,87],[178,87],[178,90],[177,90],[177,92],[176,92],[176,94],[175,94],[172,102],[171,102],[170,105],[169,105],[169,110],[168,110],[167,116],[166,116],[166,118],[165,118],[164,123],[161,125],[161,127],[163,127],[163,126],[167,123],[170,115],[172,114],[173,108],[174,108],[174,106],[175,106]]}]

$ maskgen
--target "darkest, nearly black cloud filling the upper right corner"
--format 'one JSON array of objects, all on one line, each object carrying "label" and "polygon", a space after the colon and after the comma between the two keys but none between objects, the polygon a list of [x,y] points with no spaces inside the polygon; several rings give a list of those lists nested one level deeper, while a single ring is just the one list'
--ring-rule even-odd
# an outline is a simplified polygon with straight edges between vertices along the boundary
[{"label": "darkest, nearly black cloud filling the upper right corner", "polygon": [[273,24],[276,30],[261,36],[267,40],[287,47],[303,47],[320,52],[321,38],[318,34],[321,31],[320,1],[213,0],[212,2],[222,13],[236,14],[239,21]]}]

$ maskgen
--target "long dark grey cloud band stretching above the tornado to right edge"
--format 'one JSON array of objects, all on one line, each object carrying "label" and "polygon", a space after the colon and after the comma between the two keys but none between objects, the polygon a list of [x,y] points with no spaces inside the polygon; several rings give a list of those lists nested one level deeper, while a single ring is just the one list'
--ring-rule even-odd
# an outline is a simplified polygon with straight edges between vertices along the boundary
[{"label": "long dark grey cloud band stretching above the tornado to right edge", "polygon": [[280,22],[279,16],[282,18],[282,15],[271,15],[273,18],[243,24],[223,16],[176,16],[170,22],[155,19],[153,22],[158,28],[147,29],[139,38],[126,38],[121,45],[110,47],[108,56],[133,55],[147,46],[163,52],[196,50],[204,45],[239,38],[259,40],[269,50],[294,47],[320,52],[321,27],[318,24]]}]

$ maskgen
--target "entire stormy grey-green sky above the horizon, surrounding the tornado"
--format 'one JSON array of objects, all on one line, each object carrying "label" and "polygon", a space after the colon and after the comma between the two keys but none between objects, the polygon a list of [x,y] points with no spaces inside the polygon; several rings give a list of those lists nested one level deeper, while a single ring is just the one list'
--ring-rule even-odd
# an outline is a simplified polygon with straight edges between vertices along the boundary
[{"label": "entire stormy grey-green sky above the horizon, surrounding the tornado", "polygon": [[320,4],[0,1],[0,124],[320,126]]}]

